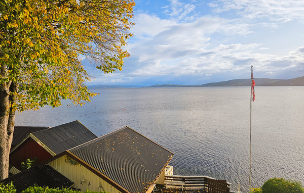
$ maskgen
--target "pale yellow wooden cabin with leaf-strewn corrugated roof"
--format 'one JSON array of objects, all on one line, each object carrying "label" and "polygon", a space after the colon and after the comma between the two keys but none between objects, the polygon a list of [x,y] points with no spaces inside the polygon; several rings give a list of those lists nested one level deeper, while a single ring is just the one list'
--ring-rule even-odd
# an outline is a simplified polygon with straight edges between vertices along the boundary
[{"label": "pale yellow wooden cabin with leaf-strewn corrugated roof", "polygon": [[151,192],[173,153],[125,126],[56,155],[48,164],[81,191]]}]

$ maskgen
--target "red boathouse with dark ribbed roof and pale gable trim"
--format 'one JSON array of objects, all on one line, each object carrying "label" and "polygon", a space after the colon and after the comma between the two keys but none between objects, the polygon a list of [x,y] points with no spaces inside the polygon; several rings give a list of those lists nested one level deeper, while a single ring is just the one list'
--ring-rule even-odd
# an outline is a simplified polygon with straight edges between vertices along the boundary
[{"label": "red boathouse with dark ribbed roof and pale gable trim", "polygon": [[[26,133],[31,130],[33,129],[31,128],[23,132]],[[20,140],[22,132],[17,133],[15,141],[19,141],[19,143],[11,149],[10,165],[19,170],[21,169],[21,163],[27,159],[33,159],[36,162],[35,164],[39,164],[65,150],[97,138],[94,133],[79,121],[30,132],[26,136],[23,136],[22,140]]]}]

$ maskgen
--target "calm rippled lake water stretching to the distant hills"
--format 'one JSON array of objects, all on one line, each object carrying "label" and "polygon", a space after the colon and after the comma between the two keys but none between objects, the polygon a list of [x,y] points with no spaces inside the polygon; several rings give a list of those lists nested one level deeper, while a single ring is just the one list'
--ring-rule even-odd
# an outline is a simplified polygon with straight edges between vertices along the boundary
[{"label": "calm rippled lake water stretching to the distant hills", "polygon": [[[226,179],[249,186],[250,87],[93,89],[82,107],[27,111],[18,126],[79,120],[97,136],[125,125],[174,153],[175,175]],[[304,184],[304,87],[255,87],[251,186],[272,177]]]}]

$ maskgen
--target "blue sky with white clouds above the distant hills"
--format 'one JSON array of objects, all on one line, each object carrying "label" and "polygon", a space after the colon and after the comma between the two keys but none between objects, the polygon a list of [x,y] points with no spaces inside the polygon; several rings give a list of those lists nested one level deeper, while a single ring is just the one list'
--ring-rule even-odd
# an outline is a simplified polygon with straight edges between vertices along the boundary
[{"label": "blue sky with white clouds above the distant hills", "polygon": [[[200,85],[304,76],[302,0],[134,0],[122,71],[88,84]],[[83,61],[86,64],[87,60]]]}]

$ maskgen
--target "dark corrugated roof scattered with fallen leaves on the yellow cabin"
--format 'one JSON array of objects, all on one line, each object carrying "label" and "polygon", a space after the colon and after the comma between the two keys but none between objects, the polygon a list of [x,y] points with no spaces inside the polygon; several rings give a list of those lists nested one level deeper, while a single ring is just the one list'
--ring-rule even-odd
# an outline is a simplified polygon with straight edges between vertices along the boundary
[{"label": "dark corrugated roof scattered with fallen leaves on the yellow cabin", "polygon": [[129,127],[123,127],[69,152],[129,192],[150,186],[173,154]]}]

